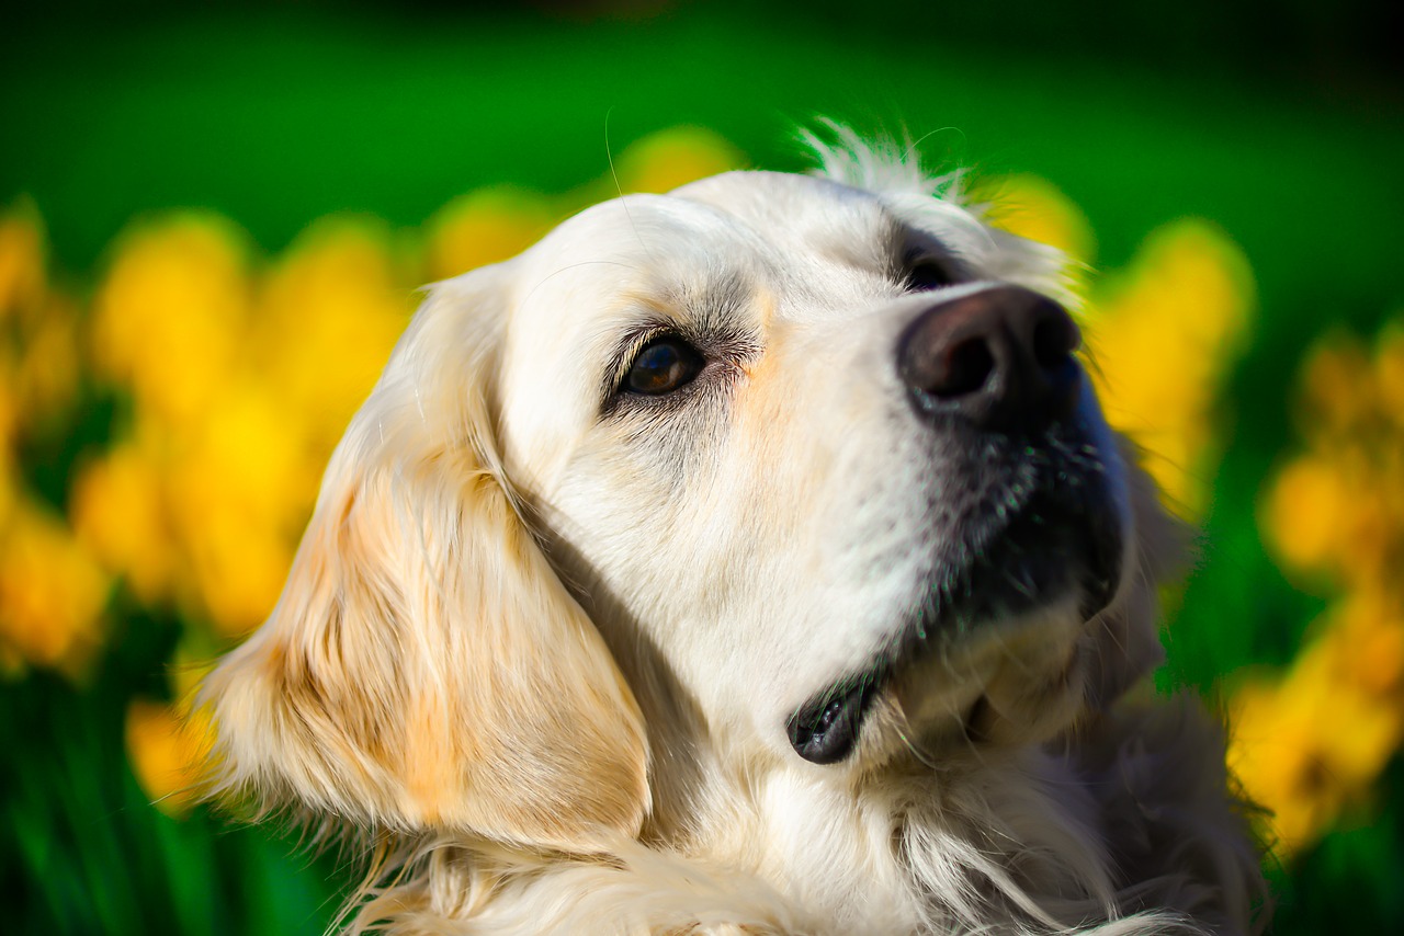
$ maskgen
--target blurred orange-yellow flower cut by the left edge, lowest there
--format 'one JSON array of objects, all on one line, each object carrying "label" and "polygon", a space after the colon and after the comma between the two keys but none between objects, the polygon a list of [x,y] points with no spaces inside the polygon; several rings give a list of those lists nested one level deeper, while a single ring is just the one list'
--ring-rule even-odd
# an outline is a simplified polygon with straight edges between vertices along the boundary
[{"label": "blurred orange-yellow flower cut by the left edge, lowest there", "polygon": [[79,675],[98,646],[107,577],[63,521],[17,498],[0,533],[0,646]]}]

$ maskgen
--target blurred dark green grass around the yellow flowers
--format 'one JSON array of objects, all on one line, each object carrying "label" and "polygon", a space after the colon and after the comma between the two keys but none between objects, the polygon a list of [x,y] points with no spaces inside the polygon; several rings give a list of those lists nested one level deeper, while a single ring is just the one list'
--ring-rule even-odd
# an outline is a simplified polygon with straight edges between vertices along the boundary
[{"label": "blurred dark green grass around the yellow flowers", "polygon": [[[1209,218],[1247,251],[1261,297],[1221,414],[1230,448],[1202,559],[1168,631],[1167,681],[1212,693],[1220,674],[1290,658],[1323,605],[1283,581],[1254,516],[1293,443],[1302,349],[1334,323],[1372,331],[1404,309],[1397,14],[1134,6],[1094,4],[1075,22],[1046,3],[682,4],[656,18],[35,6],[0,29],[0,202],[32,196],[62,275],[90,283],[104,246],[146,212],[213,208],[277,251],[326,213],[414,227],[479,185],[573,189],[607,174],[609,150],[675,125],[800,168],[792,128],[827,115],[906,129],[935,161],[1050,178],[1091,218],[1106,267],[1167,220]],[[79,441],[102,432],[90,417],[74,420]],[[76,453],[74,436],[39,448],[31,462]],[[62,502],[62,477],[35,483]],[[0,686],[0,887],[18,895],[7,928],[319,932],[336,904],[330,862],[143,801],[122,711],[160,685],[174,624],[129,620],[94,685]],[[1278,873],[1278,933],[1404,925],[1401,790],[1396,763],[1377,808]]]}]

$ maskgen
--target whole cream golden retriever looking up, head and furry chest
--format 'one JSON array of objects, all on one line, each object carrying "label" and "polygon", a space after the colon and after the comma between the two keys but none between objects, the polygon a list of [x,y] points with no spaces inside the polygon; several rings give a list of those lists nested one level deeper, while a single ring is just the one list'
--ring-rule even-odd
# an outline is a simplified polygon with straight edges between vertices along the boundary
[{"label": "whole cream golden retriever looking up, head and furry chest", "polygon": [[851,133],[430,288],[208,793],[351,932],[1245,933],[1214,718],[1132,689],[1184,535],[1053,248]]}]

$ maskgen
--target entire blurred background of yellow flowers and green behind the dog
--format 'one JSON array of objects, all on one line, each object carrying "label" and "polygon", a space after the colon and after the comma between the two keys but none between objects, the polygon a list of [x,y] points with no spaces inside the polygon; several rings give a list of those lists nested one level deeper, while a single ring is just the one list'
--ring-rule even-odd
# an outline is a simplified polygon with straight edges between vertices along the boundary
[{"label": "entire blurred background of yellow flowers and green behind the dog", "polygon": [[806,168],[820,116],[1085,265],[1108,413],[1203,530],[1157,685],[1230,718],[1275,932],[1404,928],[1393,8],[114,6],[0,28],[10,932],[322,932],[352,871],[188,803],[178,702],[272,605],[416,286]]}]

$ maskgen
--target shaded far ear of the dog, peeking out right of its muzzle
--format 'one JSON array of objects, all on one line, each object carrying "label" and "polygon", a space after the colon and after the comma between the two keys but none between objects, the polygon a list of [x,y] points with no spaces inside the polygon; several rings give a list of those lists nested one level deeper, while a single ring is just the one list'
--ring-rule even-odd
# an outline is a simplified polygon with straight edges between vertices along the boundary
[{"label": "shaded far ear of the dog, peeking out right of its muzzle", "polygon": [[1092,622],[1092,665],[1087,697],[1094,709],[1120,699],[1165,658],[1160,643],[1160,585],[1184,568],[1189,530],[1161,505],[1155,481],[1122,439],[1132,536],[1116,599]]}]

